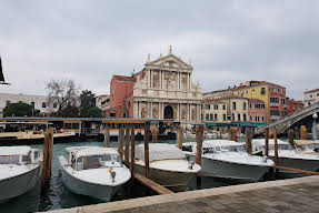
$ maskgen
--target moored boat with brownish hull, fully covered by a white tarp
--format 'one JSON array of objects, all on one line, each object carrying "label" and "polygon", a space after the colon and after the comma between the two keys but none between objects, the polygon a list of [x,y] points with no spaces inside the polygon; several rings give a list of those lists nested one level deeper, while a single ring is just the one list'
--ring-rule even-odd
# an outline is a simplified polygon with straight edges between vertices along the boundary
[{"label": "moored boat with brownish hull, fully covered by a white tarp", "polygon": [[[187,161],[173,144],[149,144],[150,179],[175,192],[185,191],[200,165]],[[136,172],[144,174],[144,146],[136,146]]]}]

